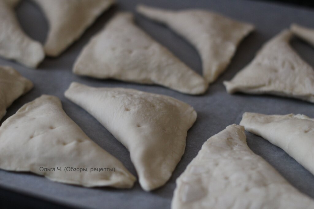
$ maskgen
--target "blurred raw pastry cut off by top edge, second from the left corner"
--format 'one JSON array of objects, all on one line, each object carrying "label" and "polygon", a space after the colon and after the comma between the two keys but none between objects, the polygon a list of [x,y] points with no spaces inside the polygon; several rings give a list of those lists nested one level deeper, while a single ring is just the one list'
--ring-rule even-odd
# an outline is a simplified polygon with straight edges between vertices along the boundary
[{"label": "blurred raw pastry cut off by top edge, second from the left corner", "polygon": [[49,23],[44,44],[48,56],[58,56],[77,40],[114,0],[33,0]]}]

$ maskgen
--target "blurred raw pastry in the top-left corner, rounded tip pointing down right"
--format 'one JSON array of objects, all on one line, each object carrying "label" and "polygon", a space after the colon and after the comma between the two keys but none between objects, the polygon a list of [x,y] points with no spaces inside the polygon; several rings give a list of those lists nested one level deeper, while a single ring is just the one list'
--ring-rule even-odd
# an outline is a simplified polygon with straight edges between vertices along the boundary
[{"label": "blurred raw pastry in the top-left corner, rounded tip pointing down right", "polygon": [[44,59],[44,50],[21,29],[13,4],[0,0],[0,56],[35,68]]}]

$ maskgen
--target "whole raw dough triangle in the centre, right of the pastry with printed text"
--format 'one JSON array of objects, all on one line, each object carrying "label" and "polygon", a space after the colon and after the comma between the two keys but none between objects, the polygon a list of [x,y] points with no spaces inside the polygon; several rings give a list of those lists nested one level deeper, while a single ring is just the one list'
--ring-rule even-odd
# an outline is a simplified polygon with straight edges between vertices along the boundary
[{"label": "whole raw dough triangle in the centre, right of the pastry with printed text", "polygon": [[166,183],[184,153],[187,130],[197,114],[164,95],[72,83],[65,92],[93,115],[129,151],[145,191]]}]

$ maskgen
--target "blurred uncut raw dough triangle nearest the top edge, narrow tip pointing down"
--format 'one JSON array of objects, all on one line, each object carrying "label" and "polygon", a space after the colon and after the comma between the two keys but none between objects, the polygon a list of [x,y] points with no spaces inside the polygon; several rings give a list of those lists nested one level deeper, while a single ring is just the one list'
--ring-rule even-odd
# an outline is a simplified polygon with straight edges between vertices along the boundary
[{"label": "blurred uncut raw dough triangle nearest the top edge, narrow tip pointing down", "polygon": [[187,39],[198,50],[203,62],[203,75],[214,82],[225,71],[241,40],[254,26],[201,9],[170,11],[138,6],[144,16],[166,24]]}]

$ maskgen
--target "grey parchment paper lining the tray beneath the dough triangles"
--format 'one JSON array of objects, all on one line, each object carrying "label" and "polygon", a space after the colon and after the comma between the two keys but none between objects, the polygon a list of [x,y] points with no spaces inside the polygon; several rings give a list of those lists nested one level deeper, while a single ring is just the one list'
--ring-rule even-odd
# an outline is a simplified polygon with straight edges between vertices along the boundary
[{"label": "grey parchment paper lining the tray beneath the dough triangles", "polygon": [[[246,21],[256,26],[240,44],[228,69],[209,87],[203,96],[184,95],[161,87],[124,83],[113,80],[96,80],[72,74],[72,66],[82,47],[106,24],[117,11],[135,12],[135,6],[143,3],[169,9],[204,8],[225,14],[231,18]],[[40,10],[28,0],[17,7],[17,14],[23,29],[32,38],[45,40],[48,25]],[[135,13],[136,23],[154,39],[164,44],[192,69],[201,74],[201,61],[196,50],[184,39],[161,24],[156,24]],[[229,95],[222,84],[230,80],[252,58],[262,44],[291,23],[299,23],[314,28],[314,10],[294,8],[279,4],[247,0],[117,0],[117,5],[97,19],[84,35],[57,58],[46,58],[38,70],[28,69],[14,62],[0,58],[0,65],[11,65],[22,75],[32,80],[35,88],[20,97],[8,108],[2,122],[12,116],[26,102],[41,94],[58,96],[62,100],[65,112],[97,144],[120,159],[134,175],[136,171],[130,161],[127,149],[120,144],[106,128],[80,107],[67,100],[63,93],[72,81],[90,86],[126,87],[169,95],[189,103],[198,112],[198,119],[188,131],[185,153],[177,165],[171,179],[160,189],[145,192],[138,182],[130,190],[111,188],[83,188],[50,181],[30,173],[15,173],[0,170],[0,185],[26,192],[62,204],[83,208],[170,208],[176,178],[184,171],[188,163],[197,155],[202,144],[212,135],[220,132],[232,123],[240,123],[242,113],[260,112],[265,114],[301,113],[314,118],[313,104],[295,99],[255,96],[245,94]],[[314,48],[294,38],[293,48],[311,66],[314,66]],[[106,107],[104,107],[106,108]],[[249,147],[261,155],[281,175],[301,192],[314,198],[314,176],[278,147],[261,137],[246,133]],[[21,147],[23,149],[23,147]],[[66,156],[64,156],[66,158]],[[79,159],[78,159],[79,160]],[[101,159],[99,159],[101,160]],[[70,166],[70,165],[69,165]]]}]

